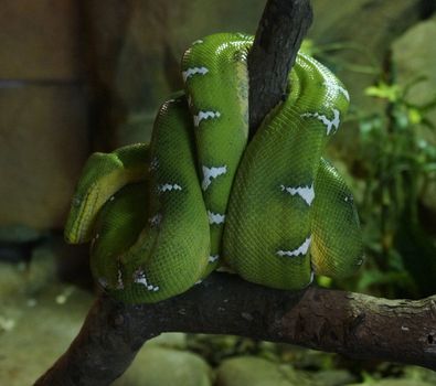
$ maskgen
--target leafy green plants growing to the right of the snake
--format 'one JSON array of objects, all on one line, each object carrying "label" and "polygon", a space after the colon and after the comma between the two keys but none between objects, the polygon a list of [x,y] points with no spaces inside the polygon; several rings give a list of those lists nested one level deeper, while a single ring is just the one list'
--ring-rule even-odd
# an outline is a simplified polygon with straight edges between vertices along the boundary
[{"label": "leafy green plants growing to the right of the snake", "polygon": [[360,214],[368,251],[358,291],[371,289],[385,297],[436,293],[436,247],[418,211],[423,190],[436,176],[436,146],[430,142],[435,127],[427,118],[436,95],[424,106],[408,98],[411,87],[424,81],[401,86],[391,67],[387,76],[364,90],[382,101],[384,110],[354,111],[361,149],[358,169],[365,182]]}]

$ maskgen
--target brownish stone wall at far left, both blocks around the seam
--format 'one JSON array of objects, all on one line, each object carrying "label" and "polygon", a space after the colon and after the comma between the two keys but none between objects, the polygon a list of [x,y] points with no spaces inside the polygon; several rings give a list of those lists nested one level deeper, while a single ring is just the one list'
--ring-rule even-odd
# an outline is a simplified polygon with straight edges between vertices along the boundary
[{"label": "brownish stone wall at far left, both blocks around the seam", "polygon": [[59,228],[89,152],[76,1],[3,0],[0,25],[0,228]]}]

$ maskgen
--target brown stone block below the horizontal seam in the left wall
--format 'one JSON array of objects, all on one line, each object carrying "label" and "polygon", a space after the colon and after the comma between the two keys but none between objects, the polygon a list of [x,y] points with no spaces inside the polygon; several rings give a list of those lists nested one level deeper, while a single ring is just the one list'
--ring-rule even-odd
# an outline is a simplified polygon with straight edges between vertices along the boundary
[{"label": "brown stone block below the horizontal seam in the left wall", "polygon": [[62,227],[88,154],[84,92],[0,88],[0,225]]}]

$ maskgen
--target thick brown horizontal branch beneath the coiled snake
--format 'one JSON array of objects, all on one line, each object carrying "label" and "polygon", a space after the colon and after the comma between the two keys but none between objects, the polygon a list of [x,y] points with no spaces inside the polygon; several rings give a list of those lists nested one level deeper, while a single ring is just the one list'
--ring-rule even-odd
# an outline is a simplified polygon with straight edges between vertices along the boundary
[{"label": "thick brown horizontal branch beneath the coiled snake", "polygon": [[315,287],[287,292],[215,272],[157,304],[99,298],[81,334],[36,385],[108,385],[143,342],[168,331],[235,334],[436,369],[436,297],[386,300]]}]

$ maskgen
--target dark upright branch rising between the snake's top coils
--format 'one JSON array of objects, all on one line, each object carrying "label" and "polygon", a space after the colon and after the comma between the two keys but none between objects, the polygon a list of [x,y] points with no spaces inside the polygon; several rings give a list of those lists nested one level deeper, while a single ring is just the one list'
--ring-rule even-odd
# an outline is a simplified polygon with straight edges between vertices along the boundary
[{"label": "dark upright branch rising between the snake's top coils", "polygon": [[312,21],[309,0],[268,0],[248,54],[249,137],[286,94],[288,73]]}]

